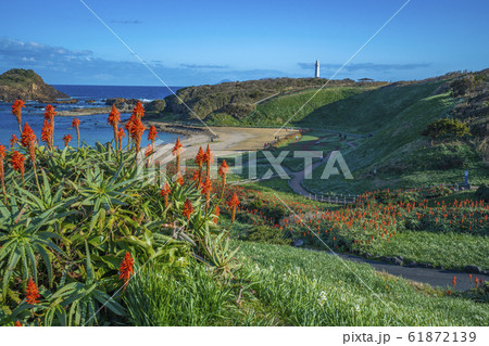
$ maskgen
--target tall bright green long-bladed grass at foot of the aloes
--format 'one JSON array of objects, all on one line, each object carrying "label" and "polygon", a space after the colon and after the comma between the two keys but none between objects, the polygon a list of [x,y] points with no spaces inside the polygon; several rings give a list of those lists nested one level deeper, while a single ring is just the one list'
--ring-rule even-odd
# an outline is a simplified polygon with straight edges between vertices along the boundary
[{"label": "tall bright green long-bladed grass at foot of the aloes", "polygon": [[[260,304],[236,304],[249,290],[221,281],[210,268],[191,262],[180,271],[150,265],[134,278],[124,302],[131,325],[273,325]],[[251,312],[251,313],[250,313]]]}]

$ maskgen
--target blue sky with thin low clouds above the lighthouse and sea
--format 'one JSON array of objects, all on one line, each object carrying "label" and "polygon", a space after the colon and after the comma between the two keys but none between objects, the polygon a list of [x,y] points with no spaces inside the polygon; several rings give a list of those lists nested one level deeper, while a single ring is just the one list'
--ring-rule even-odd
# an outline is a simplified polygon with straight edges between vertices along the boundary
[{"label": "blue sky with thin low clouds above the lighthouse and sea", "polygon": [[[319,60],[330,78],[406,2],[83,1],[2,0],[0,73],[32,68],[54,85],[191,86],[313,77]],[[487,68],[487,13],[486,0],[411,0],[334,79]]]}]

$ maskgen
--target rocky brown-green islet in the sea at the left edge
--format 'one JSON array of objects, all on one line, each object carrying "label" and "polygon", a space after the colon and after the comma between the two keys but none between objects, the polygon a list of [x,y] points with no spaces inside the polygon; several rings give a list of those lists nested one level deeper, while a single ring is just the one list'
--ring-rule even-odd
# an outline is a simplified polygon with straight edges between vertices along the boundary
[{"label": "rocky brown-green islet in the sea at the left edge", "polygon": [[22,99],[53,102],[66,98],[70,97],[47,85],[32,69],[13,68],[0,75],[0,101],[14,102]]}]

